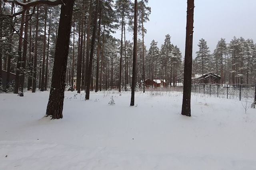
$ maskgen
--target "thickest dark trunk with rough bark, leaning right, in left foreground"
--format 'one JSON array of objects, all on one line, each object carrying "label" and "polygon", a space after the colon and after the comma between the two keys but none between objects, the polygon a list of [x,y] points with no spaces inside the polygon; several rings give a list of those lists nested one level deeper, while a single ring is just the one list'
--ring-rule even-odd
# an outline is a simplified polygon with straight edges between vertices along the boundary
[{"label": "thickest dark trunk with rough bark, leaning right, in left foreground", "polygon": [[68,61],[70,31],[74,6],[74,0],[63,1],[66,5],[62,5],[60,10],[60,24],[54,56],[52,86],[46,109],[46,116],[52,116],[52,119],[62,118],[66,66]]}]

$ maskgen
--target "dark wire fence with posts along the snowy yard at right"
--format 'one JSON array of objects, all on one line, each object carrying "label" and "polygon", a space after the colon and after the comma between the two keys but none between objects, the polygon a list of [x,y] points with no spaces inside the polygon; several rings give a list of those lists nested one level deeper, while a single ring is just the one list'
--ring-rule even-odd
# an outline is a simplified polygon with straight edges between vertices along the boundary
[{"label": "dark wire fence with posts along the snowy yard at right", "polygon": [[192,92],[218,98],[254,101],[255,85],[244,84],[192,84]]}]

